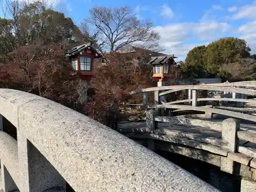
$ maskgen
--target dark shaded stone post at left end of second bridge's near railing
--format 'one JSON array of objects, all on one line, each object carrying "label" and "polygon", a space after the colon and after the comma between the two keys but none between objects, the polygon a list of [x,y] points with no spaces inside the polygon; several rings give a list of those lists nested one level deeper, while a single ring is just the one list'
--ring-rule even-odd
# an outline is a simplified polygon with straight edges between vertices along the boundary
[{"label": "dark shaded stone post at left end of second bridge's near railing", "polygon": [[[155,117],[158,115],[157,110],[148,110],[146,111],[146,126],[151,130],[151,133],[154,133],[154,130],[157,129],[157,124]],[[155,151],[155,140],[147,139],[147,148]]]}]

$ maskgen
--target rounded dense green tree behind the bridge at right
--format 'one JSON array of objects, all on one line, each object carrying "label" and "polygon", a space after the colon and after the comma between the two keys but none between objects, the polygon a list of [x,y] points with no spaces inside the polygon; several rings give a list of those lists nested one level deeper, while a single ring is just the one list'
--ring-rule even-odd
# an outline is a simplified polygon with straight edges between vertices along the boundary
[{"label": "rounded dense green tree behind the bridge at right", "polygon": [[223,65],[249,57],[249,51],[250,48],[246,46],[244,39],[224,37],[211,42],[208,46],[198,46],[190,50],[181,67],[196,73],[206,70],[208,73],[225,75]]}]

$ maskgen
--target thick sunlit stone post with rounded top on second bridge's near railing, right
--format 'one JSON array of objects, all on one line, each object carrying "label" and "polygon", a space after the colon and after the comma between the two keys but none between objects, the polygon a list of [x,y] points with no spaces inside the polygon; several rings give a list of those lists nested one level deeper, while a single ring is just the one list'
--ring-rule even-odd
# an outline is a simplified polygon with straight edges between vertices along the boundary
[{"label": "thick sunlit stone post with rounded top on second bridge's near railing, right", "polygon": [[[238,130],[240,129],[240,122],[237,119],[225,119],[222,122],[222,143],[221,148],[228,152],[237,152],[239,139],[237,137]],[[229,174],[234,173],[235,162],[221,157],[221,170]]]}]

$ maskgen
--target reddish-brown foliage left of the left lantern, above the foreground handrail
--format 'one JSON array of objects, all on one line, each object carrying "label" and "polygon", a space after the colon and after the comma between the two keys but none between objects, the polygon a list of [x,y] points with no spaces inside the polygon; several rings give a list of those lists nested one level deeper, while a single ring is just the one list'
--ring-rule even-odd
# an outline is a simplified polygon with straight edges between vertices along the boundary
[{"label": "reddish-brown foliage left of the left lantern, above the foreground handrail", "polygon": [[0,86],[46,97],[79,111],[76,88],[80,81],[69,75],[69,62],[63,51],[57,44],[15,49],[2,63]]}]

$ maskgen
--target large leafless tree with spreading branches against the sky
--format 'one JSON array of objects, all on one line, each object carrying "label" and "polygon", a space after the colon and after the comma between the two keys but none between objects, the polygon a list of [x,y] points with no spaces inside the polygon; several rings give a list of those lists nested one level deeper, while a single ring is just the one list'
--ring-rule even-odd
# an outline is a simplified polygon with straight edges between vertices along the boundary
[{"label": "large leafless tree with spreading branches against the sky", "polygon": [[91,31],[84,33],[97,34],[98,42],[105,49],[115,52],[127,45],[146,44],[158,46],[160,35],[153,30],[151,20],[140,20],[128,7],[106,8],[94,7],[84,24]]}]

